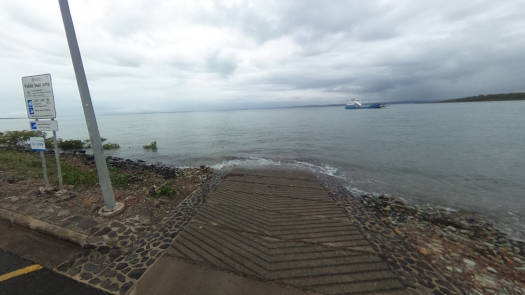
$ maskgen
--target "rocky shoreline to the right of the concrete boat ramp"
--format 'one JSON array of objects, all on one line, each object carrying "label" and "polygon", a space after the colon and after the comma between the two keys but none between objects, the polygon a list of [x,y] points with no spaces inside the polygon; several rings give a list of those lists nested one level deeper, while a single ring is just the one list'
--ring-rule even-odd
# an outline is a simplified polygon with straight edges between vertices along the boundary
[{"label": "rocky shoreline to the right of the concrete boat ramp", "polygon": [[319,177],[415,293],[525,294],[525,243],[485,217],[353,194],[340,180]]}]

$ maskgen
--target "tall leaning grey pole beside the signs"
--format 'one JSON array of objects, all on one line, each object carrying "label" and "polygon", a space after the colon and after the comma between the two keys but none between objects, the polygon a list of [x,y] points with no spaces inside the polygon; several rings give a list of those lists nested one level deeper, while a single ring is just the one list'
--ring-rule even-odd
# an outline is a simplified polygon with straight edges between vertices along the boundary
[{"label": "tall leaning grey pole beside the signs", "polygon": [[66,31],[69,52],[71,53],[71,60],[73,61],[73,68],[75,69],[78,91],[80,92],[84,117],[86,118],[86,124],[89,131],[89,139],[91,140],[91,146],[95,156],[98,180],[100,187],[102,188],[102,195],[104,196],[105,211],[113,211],[115,210],[115,195],[113,194],[113,187],[111,185],[111,180],[109,179],[108,166],[102,150],[102,141],[100,140],[100,133],[95,118],[95,110],[91,103],[86,73],[84,72],[84,66],[82,65],[82,58],[80,56],[80,49],[78,48],[75,28],[73,27],[73,20],[71,19],[71,13],[69,11],[69,4],[67,0],[58,0],[58,4],[60,5],[60,11],[62,13],[62,21],[64,22],[64,29]]}]

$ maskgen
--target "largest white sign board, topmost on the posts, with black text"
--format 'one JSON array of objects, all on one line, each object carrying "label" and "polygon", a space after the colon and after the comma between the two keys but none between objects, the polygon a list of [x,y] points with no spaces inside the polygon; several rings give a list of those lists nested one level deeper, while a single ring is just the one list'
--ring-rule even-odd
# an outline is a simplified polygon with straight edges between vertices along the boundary
[{"label": "largest white sign board, topmost on the posts, with black text", "polygon": [[22,77],[22,85],[29,119],[56,117],[51,74]]}]

